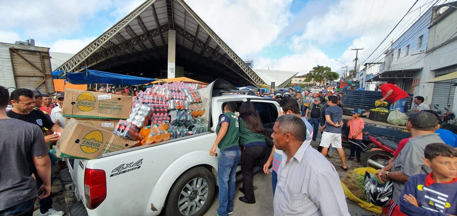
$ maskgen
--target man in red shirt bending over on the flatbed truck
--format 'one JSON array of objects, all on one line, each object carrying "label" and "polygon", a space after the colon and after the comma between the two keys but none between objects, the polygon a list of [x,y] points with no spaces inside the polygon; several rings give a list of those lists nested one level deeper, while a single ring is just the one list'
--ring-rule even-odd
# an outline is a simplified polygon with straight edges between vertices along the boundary
[{"label": "man in red shirt bending over on the flatbed truck", "polygon": [[406,103],[406,98],[409,96],[408,93],[396,85],[389,83],[377,82],[376,87],[381,89],[383,93],[383,98],[379,100],[388,100],[391,103],[390,110],[396,109],[402,113],[404,112],[404,104]]}]

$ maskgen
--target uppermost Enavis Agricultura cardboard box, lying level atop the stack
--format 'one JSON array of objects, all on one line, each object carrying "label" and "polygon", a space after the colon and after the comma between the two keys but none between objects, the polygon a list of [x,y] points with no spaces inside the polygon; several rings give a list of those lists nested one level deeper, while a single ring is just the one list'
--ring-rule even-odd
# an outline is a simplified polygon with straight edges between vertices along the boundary
[{"label": "uppermost Enavis Agricultura cardboard box, lying level atop the stack", "polygon": [[62,115],[66,118],[127,119],[132,97],[66,88]]}]

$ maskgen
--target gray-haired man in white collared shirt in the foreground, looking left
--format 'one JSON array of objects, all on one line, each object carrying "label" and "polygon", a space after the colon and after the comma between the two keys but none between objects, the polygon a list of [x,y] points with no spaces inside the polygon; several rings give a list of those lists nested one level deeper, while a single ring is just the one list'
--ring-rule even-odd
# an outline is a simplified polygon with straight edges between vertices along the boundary
[{"label": "gray-haired man in white collared shirt in the foreground, looking left", "polygon": [[349,216],[335,167],[306,141],[306,126],[296,115],[278,117],[273,143],[283,151],[273,198],[275,216]]}]

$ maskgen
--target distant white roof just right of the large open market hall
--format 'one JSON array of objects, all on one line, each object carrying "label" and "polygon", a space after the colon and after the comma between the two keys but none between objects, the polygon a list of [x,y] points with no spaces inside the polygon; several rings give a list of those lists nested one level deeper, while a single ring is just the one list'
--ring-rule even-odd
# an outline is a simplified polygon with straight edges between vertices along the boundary
[{"label": "distant white roof just right of the large open market hall", "polygon": [[285,87],[298,74],[296,71],[276,71],[255,68],[253,70],[267,85],[275,82],[276,88]]}]

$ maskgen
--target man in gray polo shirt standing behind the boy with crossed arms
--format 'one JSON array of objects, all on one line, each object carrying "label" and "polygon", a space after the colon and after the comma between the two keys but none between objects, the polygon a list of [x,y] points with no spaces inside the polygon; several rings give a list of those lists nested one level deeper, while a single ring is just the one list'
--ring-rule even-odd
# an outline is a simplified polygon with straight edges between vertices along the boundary
[{"label": "man in gray polo shirt standing behind the boy with crossed arms", "polygon": [[401,214],[399,209],[400,193],[406,181],[414,174],[430,173],[430,167],[424,164],[425,146],[431,143],[444,143],[440,136],[435,133],[440,127],[435,115],[428,112],[418,112],[408,119],[407,127],[412,138],[400,151],[393,163],[385,166],[377,173],[383,182],[393,180],[393,197],[389,207],[383,208],[388,216]]}]

